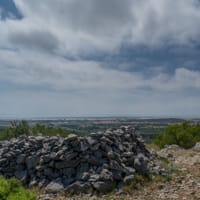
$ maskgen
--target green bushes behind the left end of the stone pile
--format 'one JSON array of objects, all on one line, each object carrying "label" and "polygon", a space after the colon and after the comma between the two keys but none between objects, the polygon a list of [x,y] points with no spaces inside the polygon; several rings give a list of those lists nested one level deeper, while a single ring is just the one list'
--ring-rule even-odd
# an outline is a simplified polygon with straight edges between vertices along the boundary
[{"label": "green bushes behind the left end of the stone pile", "polygon": [[0,140],[9,140],[11,138],[16,138],[20,135],[38,135],[42,134],[44,136],[54,136],[60,135],[62,137],[66,137],[69,135],[69,131],[57,128],[53,126],[46,126],[43,124],[36,124],[33,127],[30,127],[28,122],[20,121],[20,122],[11,122],[9,128],[6,128],[0,131]]}]

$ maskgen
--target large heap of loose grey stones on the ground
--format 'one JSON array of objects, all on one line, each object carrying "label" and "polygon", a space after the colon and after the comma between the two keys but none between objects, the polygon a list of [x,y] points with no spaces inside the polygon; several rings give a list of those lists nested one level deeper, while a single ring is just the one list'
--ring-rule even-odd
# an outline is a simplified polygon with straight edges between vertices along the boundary
[{"label": "large heap of loose grey stones on the ground", "polygon": [[0,142],[0,175],[15,176],[51,192],[106,193],[134,180],[134,173],[149,173],[151,159],[129,126],[84,138],[20,136]]}]

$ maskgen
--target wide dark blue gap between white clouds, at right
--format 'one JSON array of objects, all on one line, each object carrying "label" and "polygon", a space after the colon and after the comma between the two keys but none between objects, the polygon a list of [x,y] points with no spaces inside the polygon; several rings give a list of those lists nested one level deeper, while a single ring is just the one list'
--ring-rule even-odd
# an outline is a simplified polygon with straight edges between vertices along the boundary
[{"label": "wide dark blue gap between white clouds, at right", "polygon": [[[176,68],[185,67],[190,70],[200,69],[200,48],[198,45],[170,45],[160,48],[144,46],[123,46],[112,55],[89,56],[85,59],[96,59],[104,63],[104,67],[128,72],[143,72],[149,76],[152,69],[162,67],[162,71],[173,74]],[[152,74],[154,75],[154,74]]]}]

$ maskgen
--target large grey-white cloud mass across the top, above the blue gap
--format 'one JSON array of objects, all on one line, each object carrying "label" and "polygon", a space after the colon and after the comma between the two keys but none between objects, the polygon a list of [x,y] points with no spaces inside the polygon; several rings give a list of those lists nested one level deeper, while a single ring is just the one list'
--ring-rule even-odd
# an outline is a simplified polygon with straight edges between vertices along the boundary
[{"label": "large grey-white cloud mass across the top, above the blue gap", "polygon": [[200,36],[198,0],[15,0],[15,4],[24,18],[0,22],[0,42],[10,47],[29,48],[35,41],[35,48],[41,49],[38,41],[44,34],[44,45],[55,40],[57,53],[84,55],[117,51],[124,42],[190,44]]}]

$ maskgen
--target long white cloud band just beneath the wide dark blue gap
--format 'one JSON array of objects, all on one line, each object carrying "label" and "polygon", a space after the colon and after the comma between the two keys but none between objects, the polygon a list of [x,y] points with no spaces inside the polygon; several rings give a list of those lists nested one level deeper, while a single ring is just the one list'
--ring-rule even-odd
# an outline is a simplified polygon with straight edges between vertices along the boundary
[{"label": "long white cloud band just beneath the wide dark blue gap", "polygon": [[99,62],[70,61],[36,52],[4,50],[0,51],[0,60],[0,80],[18,85],[47,86],[53,90],[200,90],[200,72],[185,68],[177,68],[172,75],[159,71],[145,77],[142,72],[105,69]]}]

